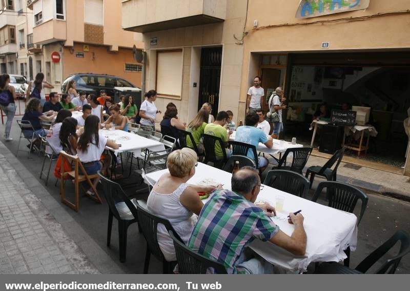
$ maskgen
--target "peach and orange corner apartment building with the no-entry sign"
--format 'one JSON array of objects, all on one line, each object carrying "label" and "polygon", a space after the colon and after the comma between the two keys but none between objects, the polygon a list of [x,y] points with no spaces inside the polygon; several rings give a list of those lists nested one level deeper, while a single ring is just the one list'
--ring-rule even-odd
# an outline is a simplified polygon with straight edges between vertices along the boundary
[{"label": "peach and orange corner apartment building with the no-entry sign", "polygon": [[[121,0],[27,0],[26,4],[28,28],[20,32],[18,27],[18,34],[26,34],[29,79],[41,71],[58,90],[70,74],[103,73],[140,87],[142,67],[133,59],[132,47],[142,47],[142,39],[121,29]],[[26,72],[25,64],[20,69]]]}]

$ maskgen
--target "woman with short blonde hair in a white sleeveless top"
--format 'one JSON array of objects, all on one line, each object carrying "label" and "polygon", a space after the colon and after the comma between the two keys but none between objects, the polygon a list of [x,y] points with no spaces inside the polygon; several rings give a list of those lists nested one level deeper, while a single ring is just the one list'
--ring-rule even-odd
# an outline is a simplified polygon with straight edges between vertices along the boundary
[{"label": "woman with short blonde hair in a white sleeveless top", "polygon": [[[195,174],[197,156],[190,148],[174,150],[167,159],[168,173],[163,174],[152,189],[147,206],[155,215],[171,222],[179,237],[188,242],[194,222],[193,214],[199,215],[203,203],[198,192],[210,193],[215,186],[187,184]],[[162,224],[157,228],[158,244],[165,259],[176,261],[175,248],[167,229]]]}]

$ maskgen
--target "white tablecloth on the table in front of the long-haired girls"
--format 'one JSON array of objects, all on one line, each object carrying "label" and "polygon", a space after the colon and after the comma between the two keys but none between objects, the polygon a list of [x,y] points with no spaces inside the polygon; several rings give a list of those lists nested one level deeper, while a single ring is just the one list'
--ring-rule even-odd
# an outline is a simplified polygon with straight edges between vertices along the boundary
[{"label": "white tablecloth on the table in front of the long-haired girls", "polygon": [[113,140],[115,143],[120,144],[119,149],[111,149],[115,156],[120,152],[129,151],[133,152],[134,156],[138,157],[141,153],[141,148],[148,148],[153,151],[165,150],[165,146],[155,140],[150,140],[132,132],[126,132],[124,130],[105,130],[100,129],[100,133],[104,134],[108,139]]}]

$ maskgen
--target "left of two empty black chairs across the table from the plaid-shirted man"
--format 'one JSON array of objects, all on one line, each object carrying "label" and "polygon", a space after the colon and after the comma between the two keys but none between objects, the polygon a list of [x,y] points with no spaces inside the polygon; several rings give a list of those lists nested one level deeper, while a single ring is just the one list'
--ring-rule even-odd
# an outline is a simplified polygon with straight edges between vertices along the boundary
[{"label": "left of two empty black chairs across the table from the plaid-shirted man", "polygon": [[289,170],[270,170],[264,185],[305,198],[309,192],[309,180]]}]

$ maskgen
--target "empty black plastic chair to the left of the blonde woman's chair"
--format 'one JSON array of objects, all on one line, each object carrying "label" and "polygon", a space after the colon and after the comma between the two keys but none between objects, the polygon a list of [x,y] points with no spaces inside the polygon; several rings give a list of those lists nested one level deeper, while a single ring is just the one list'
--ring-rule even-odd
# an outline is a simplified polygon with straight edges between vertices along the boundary
[{"label": "empty black plastic chair to the left of the blonde woman's chair", "polygon": [[[128,226],[137,222],[136,204],[141,203],[141,207],[145,202],[132,202],[122,190],[118,183],[115,183],[101,174],[98,171],[101,185],[104,188],[104,195],[109,206],[108,211],[108,230],[107,230],[107,246],[111,244],[111,229],[112,220],[115,217],[118,221],[119,233],[119,261],[124,263],[127,254],[127,230]],[[141,228],[138,228],[141,231]]]}]

